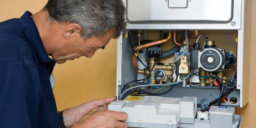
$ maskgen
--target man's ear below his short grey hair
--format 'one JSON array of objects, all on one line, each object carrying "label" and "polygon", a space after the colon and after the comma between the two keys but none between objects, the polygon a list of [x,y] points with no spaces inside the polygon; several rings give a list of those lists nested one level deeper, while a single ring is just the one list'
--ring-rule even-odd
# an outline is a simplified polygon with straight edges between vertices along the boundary
[{"label": "man's ear below his short grey hair", "polygon": [[65,27],[65,31],[63,33],[64,37],[69,39],[74,37],[76,34],[81,32],[82,28],[77,23],[70,23]]}]

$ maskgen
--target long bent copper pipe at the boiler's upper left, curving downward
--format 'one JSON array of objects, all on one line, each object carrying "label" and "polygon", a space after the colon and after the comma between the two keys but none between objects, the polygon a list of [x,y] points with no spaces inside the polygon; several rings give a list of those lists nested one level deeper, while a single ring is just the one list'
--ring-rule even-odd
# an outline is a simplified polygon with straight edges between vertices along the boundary
[{"label": "long bent copper pipe at the boiler's upper left, curving downward", "polygon": [[[148,48],[148,47],[153,47],[153,46],[156,46],[156,45],[165,44],[166,42],[170,41],[171,38],[172,38],[172,32],[169,31],[167,38],[164,38],[164,39],[158,40],[158,41],[152,41],[152,42],[147,43],[147,44],[139,45],[139,46],[137,46],[137,47],[134,47],[134,51],[137,52],[137,51],[139,51],[140,49],[145,49],[145,48]],[[143,74],[143,70],[140,70],[140,69],[138,68],[137,56],[136,56],[134,53],[132,53],[132,64],[133,64],[134,70],[135,70],[137,73]]]}]

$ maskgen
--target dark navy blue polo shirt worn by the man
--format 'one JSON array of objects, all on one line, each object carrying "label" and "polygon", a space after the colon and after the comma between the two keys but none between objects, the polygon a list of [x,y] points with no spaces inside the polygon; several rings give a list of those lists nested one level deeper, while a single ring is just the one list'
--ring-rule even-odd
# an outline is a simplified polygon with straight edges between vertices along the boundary
[{"label": "dark navy blue polo shirt worn by the man", "polygon": [[49,58],[30,12],[0,23],[0,128],[58,128]]}]

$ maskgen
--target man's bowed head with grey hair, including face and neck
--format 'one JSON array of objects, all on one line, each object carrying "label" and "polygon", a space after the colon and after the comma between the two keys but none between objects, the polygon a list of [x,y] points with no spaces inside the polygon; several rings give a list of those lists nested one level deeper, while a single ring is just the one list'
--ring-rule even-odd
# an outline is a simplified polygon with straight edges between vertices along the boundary
[{"label": "man's bowed head with grey hair, including face and neck", "polygon": [[46,19],[32,17],[48,55],[59,64],[92,57],[125,29],[122,0],[49,0],[40,13]]}]

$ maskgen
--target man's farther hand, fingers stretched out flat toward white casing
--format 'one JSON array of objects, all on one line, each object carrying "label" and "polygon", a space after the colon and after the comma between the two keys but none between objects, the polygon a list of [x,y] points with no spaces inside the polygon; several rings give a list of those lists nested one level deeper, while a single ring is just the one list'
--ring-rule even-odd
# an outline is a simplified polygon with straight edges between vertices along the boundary
[{"label": "man's farther hand, fingers stretched out flat toward white casing", "polygon": [[105,99],[94,99],[90,102],[86,102],[81,104],[75,108],[68,108],[63,111],[63,118],[65,122],[65,126],[67,128],[71,127],[74,123],[78,122],[86,113],[88,113],[93,108],[99,108],[102,106],[106,106],[113,101],[116,101],[117,97],[114,96],[112,98]]}]

